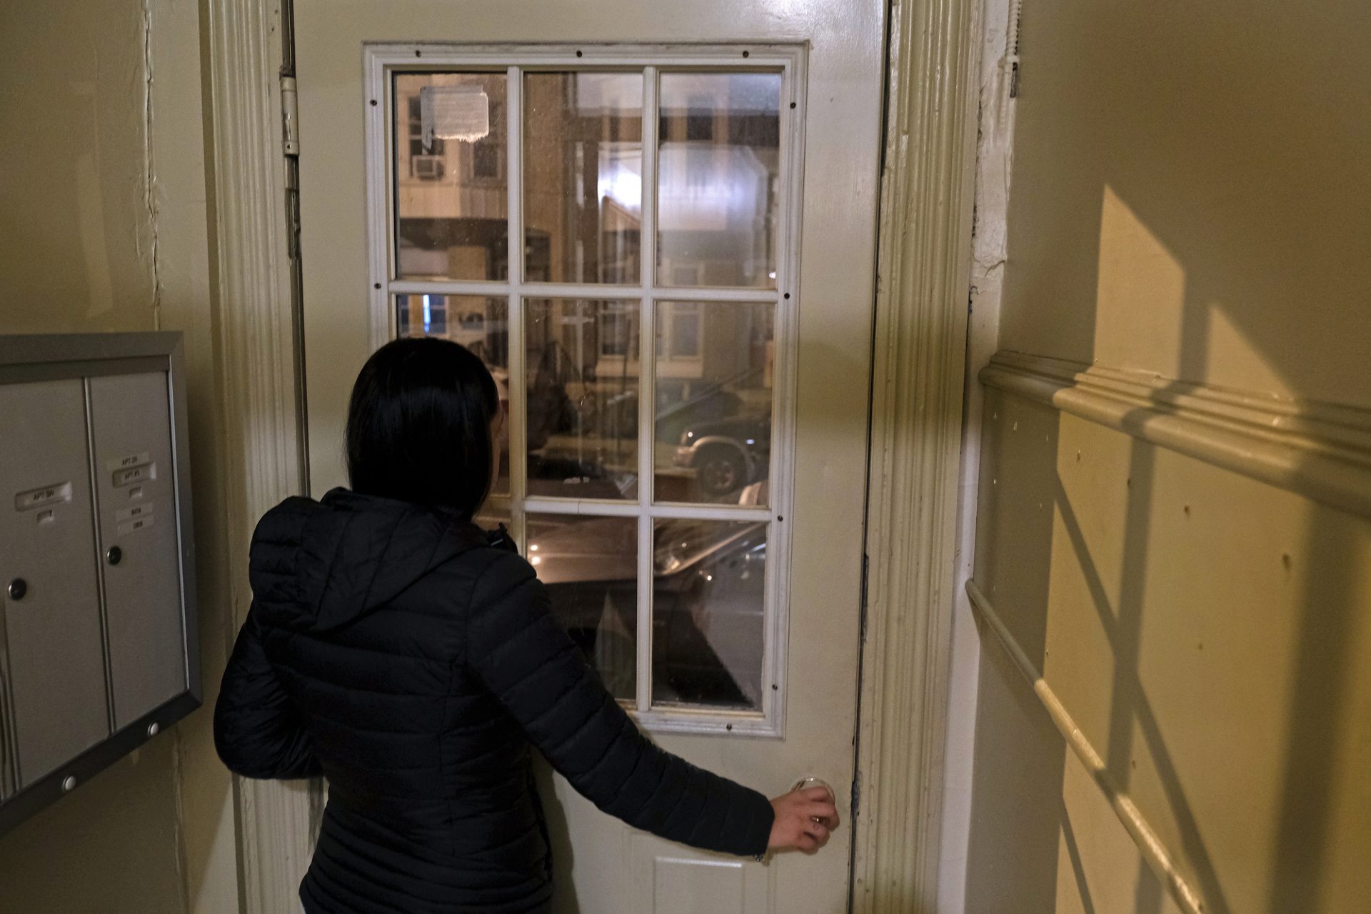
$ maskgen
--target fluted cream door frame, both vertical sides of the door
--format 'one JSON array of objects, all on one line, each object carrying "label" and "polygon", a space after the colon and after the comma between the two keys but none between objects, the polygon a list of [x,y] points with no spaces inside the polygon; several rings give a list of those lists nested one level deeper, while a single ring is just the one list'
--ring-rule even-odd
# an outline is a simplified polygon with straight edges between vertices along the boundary
[{"label": "fluted cream door frame, both vertical sides of the door", "polygon": [[[281,219],[289,0],[207,0],[207,8],[218,385],[240,623],[255,519],[306,482],[292,245]],[[854,911],[934,910],[936,899],[980,14],[980,0],[890,8]],[[244,911],[295,910],[318,791],[234,777],[234,798]]]}]

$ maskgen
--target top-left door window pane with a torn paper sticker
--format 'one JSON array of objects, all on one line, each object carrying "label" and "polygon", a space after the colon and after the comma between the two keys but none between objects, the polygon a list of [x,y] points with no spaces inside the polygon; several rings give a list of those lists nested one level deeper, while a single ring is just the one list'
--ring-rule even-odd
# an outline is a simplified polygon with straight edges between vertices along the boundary
[{"label": "top-left door window pane with a torn paper sticker", "polygon": [[503,73],[395,75],[395,271],[509,275]]}]

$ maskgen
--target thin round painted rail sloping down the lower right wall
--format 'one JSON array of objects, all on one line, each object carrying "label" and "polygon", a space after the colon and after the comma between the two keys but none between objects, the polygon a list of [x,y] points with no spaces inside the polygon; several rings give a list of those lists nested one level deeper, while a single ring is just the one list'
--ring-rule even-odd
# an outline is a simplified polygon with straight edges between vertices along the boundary
[{"label": "thin round painted rail sloping down the lower right wall", "polygon": [[995,633],[999,645],[1009,654],[1019,671],[1023,673],[1034,695],[1042,702],[1043,710],[1047,711],[1047,717],[1056,725],[1057,732],[1067,740],[1067,745],[1076,754],[1076,758],[1086,766],[1090,777],[1094,778],[1095,785],[1104,792],[1105,799],[1109,800],[1109,806],[1113,807],[1115,815],[1119,817],[1124,830],[1128,832],[1134,844],[1138,845],[1138,852],[1148,862],[1148,867],[1167,888],[1167,893],[1186,914],[1202,914],[1204,900],[1190,882],[1176,872],[1174,863],[1176,858],[1167,851],[1161,839],[1157,837],[1156,829],[1152,828],[1134,802],[1128,799],[1128,795],[1115,784],[1104,758],[1095,751],[1090,740],[1086,739],[1086,734],[1076,725],[1075,718],[1071,717],[1061,699],[1057,697],[1057,693],[1053,692],[1052,687],[1047,685],[1047,681],[1032,665],[1032,660],[1024,654],[1019,641],[1015,640],[1004,619],[999,618],[994,606],[986,599],[986,595],[982,593],[975,581],[967,581],[967,595],[971,597],[971,606],[976,611],[976,618]]}]

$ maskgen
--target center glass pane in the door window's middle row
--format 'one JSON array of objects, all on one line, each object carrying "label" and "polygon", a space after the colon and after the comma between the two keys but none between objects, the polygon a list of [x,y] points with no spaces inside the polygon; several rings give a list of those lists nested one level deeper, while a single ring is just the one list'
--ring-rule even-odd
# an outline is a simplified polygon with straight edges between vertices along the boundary
[{"label": "center glass pane in the door window's middle row", "polygon": [[529,496],[638,497],[639,307],[526,301]]}]

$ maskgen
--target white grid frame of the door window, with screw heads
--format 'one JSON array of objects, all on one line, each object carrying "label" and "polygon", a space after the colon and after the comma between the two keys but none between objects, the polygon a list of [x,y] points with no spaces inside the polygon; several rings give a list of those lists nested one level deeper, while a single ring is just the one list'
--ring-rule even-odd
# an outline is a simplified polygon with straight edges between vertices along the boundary
[{"label": "white grid frame of the door window, with screw heads", "polygon": [[[790,632],[790,525],[795,443],[795,355],[798,348],[799,226],[803,186],[805,63],[802,45],[669,45],[669,44],[367,44],[363,47],[362,111],[366,129],[367,271],[372,347],[395,338],[398,295],[477,295],[505,297],[509,307],[510,384],[510,495],[511,532],[522,547],[529,512],[638,518],[638,695],[629,711],[657,733],[731,734],[780,739],[786,724],[786,655]],[[446,281],[399,280],[395,270],[395,95],[396,73],[428,71],[505,73],[507,78],[505,127],[507,158],[509,252],[505,280]],[[522,125],[524,82],[529,71],[643,73],[643,200],[639,240],[642,275],[636,284],[537,282],[525,278]],[[713,71],[779,73],[781,193],[776,214],[775,288],[673,286],[658,284],[657,274],[657,158],[659,153],[657,104],[662,73]],[[407,137],[406,137],[407,140]],[[406,147],[407,151],[407,147]],[[558,497],[526,497],[526,371],[525,299],[636,299],[639,301],[639,497],[633,502],[600,502]],[[769,507],[683,504],[654,497],[657,311],[659,301],[768,303],[775,308],[776,356],[773,366],[772,452]],[[703,340],[701,340],[703,345]],[[644,447],[646,445],[646,447]],[[766,585],[762,651],[761,710],[735,711],[710,707],[653,707],[653,528],[658,519],[765,521]]]}]

